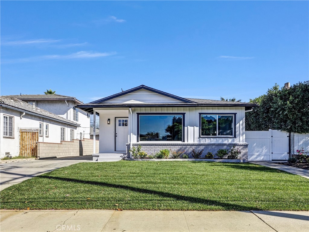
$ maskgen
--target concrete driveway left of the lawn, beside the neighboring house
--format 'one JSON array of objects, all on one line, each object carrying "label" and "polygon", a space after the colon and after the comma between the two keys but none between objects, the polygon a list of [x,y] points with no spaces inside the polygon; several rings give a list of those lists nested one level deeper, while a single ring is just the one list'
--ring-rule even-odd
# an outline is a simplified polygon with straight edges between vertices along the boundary
[{"label": "concrete driveway left of the lawn, beside the neighboring house", "polygon": [[92,161],[92,155],[2,163],[0,190],[58,168],[89,161]]}]

